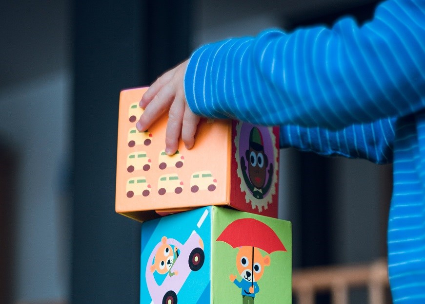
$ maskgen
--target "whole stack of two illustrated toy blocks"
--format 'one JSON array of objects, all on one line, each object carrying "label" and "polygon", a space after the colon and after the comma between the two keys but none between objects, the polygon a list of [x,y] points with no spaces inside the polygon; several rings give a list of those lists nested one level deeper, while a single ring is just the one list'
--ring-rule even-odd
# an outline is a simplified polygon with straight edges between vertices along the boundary
[{"label": "whole stack of two illustrated toy blocks", "polygon": [[166,115],[135,126],[146,89],[121,91],[116,188],[116,211],[143,222],[141,304],[291,303],[279,129],[202,119],[195,146],[168,156]]}]

